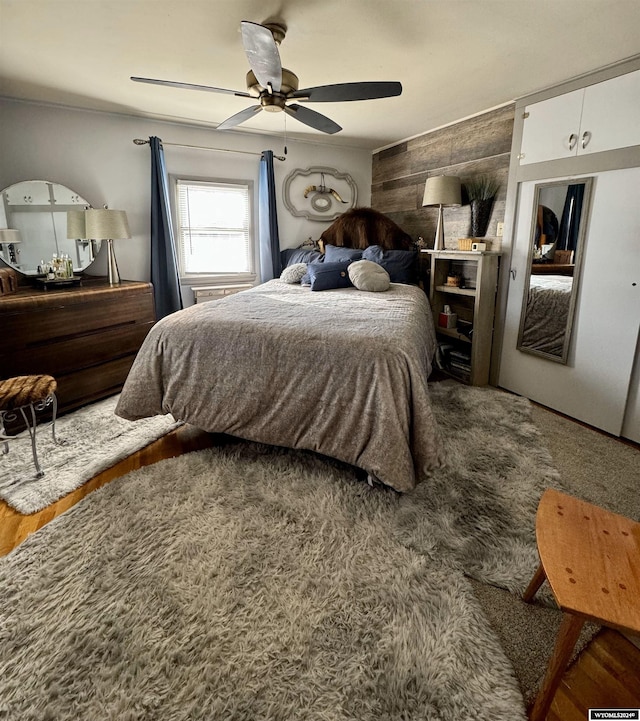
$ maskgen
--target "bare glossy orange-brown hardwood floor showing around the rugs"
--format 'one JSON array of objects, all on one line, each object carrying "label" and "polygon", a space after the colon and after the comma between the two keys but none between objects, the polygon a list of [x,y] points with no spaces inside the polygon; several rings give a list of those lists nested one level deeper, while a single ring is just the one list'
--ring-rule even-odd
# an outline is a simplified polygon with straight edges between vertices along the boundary
[{"label": "bare glossy orange-brown hardwood floor showing around the rugs", "polygon": [[[0,556],[114,478],[215,443],[216,436],[181,426],[39,513],[24,516],[0,501]],[[547,721],[586,721],[588,709],[609,707],[640,708],[640,649],[618,632],[604,629],[564,674]]]}]

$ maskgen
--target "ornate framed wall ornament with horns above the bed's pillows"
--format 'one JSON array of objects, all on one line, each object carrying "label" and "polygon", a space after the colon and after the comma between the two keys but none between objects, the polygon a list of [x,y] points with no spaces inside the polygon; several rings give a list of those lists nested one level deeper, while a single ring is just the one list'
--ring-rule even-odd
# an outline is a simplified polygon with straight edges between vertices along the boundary
[{"label": "ornate framed wall ornament with horns above the bed's pillows", "polygon": [[297,168],[285,178],[283,198],[291,215],[327,222],[355,207],[358,187],[348,173],[335,168]]}]

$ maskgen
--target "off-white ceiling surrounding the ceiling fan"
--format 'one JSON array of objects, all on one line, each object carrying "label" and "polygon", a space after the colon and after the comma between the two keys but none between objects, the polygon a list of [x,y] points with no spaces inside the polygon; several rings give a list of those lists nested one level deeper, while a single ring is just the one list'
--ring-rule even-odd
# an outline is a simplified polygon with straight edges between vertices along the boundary
[{"label": "off-white ceiling surrounding the ceiling fan", "polygon": [[[308,107],[377,149],[640,53],[640,0],[0,0],[0,95],[215,127],[247,98],[240,21],[283,20],[300,87],[399,80],[400,97]],[[284,113],[241,127],[282,136]],[[243,130],[220,131],[243,132]]]}]

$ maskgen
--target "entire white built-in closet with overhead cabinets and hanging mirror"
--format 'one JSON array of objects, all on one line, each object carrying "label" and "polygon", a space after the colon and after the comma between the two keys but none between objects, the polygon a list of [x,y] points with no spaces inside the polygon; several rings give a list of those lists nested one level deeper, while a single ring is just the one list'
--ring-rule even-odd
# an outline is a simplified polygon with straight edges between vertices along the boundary
[{"label": "entire white built-in closet with overhead cabinets and hanging mirror", "polygon": [[[526,105],[525,99],[520,110],[526,108],[528,117],[516,106],[516,123],[521,125],[514,131],[510,182],[517,193],[511,210],[498,385],[640,443],[637,67],[634,63],[633,72],[582,89],[570,85],[570,92],[541,102]],[[574,147],[569,149],[572,135]],[[619,148],[628,148],[623,161]],[[518,150],[524,157],[517,158]],[[567,159],[570,155],[575,159]],[[567,188],[581,181],[588,183],[590,192],[579,210],[584,221],[581,235],[576,234],[569,246],[563,243],[576,198]],[[556,202],[558,187],[566,196]],[[541,195],[543,189],[546,196]],[[562,339],[566,344],[563,350],[549,352],[543,342],[554,338],[543,336],[555,330],[558,313],[565,312],[567,287],[573,291],[573,305]],[[529,323],[530,317],[537,326]],[[527,343],[530,329],[541,333],[537,347]]]}]

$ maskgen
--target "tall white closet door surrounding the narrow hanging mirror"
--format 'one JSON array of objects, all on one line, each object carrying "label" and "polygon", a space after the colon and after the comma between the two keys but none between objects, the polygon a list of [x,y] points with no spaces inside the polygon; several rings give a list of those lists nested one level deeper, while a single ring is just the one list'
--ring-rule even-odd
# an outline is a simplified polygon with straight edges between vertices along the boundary
[{"label": "tall white closet door surrounding the narrow hanging mirror", "polygon": [[534,187],[543,181],[521,184],[499,385],[620,435],[640,326],[640,168],[594,177],[567,365],[516,350]]}]

